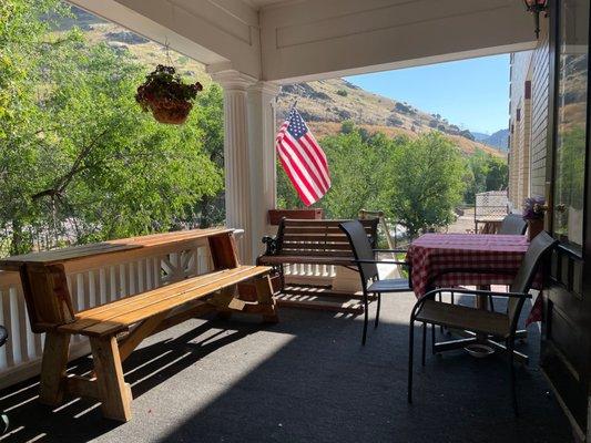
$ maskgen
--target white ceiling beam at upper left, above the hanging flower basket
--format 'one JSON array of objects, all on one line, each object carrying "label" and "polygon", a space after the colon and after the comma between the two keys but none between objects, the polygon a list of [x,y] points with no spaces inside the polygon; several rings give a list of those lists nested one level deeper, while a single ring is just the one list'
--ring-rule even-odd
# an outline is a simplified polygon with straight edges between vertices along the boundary
[{"label": "white ceiling beam at upper left, above the hanging flower basket", "polygon": [[240,0],[70,0],[206,65],[261,76],[258,13]]}]

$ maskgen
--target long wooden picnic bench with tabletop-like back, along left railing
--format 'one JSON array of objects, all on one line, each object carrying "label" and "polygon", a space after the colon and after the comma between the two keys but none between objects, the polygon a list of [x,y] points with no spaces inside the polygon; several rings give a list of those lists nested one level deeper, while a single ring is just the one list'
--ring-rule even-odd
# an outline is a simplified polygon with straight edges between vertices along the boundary
[{"label": "long wooden picnic bench with tabletop-like back, along left railing", "polygon": [[[206,241],[211,272],[74,312],[64,265],[77,260],[172,243]],[[89,396],[102,403],[103,415],[131,419],[131,389],[122,362],[146,337],[198,315],[234,311],[262,315],[276,321],[269,267],[238,262],[232,229],[195,229],[105,241],[0,260],[0,269],[19,271],[33,332],[45,333],[40,401],[58,405],[64,394]],[[253,280],[256,300],[245,301],[238,284]],[[67,375],[72,334],[85,336],[94,363],[91,378]]]}]

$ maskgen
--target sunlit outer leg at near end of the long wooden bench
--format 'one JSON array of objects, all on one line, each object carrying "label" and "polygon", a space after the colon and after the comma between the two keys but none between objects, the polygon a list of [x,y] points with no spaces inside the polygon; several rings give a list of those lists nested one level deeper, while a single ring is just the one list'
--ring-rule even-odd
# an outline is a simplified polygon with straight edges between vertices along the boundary
[{"label": "sunlit outer leg at near end of the long wooden bench", "polygon": [[131,388],[123,380],[119,346],[114,336],[90,339],[103,415],[126,422],[131,419]]}]

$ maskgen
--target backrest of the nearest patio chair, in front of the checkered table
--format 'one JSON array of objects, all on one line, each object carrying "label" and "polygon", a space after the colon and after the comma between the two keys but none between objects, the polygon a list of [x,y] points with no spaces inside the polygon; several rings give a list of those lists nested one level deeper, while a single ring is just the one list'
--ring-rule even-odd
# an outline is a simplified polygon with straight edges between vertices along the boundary
[{"label": "backrest of the nearest patio chair, in front of the checkered table", "polygon": [[[541,231],[530,243],[529,248],[521,261],[521,266],[511,284],[510,291],[527,293],[531,289],[536,274],[540,269],[540,265],[549,256],[550,251],[558,244],[558,240],[552,238],[548,233]],[[523,300],[517,298],[509,299],[508,313],[512,322],[517,323],[516,315],[521,310]],[[513,321],[514,320],[514,321]]]}]

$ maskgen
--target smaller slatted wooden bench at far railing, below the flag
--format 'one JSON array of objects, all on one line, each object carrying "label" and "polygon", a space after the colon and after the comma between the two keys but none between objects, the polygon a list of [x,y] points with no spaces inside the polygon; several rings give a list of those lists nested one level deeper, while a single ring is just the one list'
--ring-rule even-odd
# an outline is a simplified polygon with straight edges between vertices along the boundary
[{"label": "smaller slatted wooden bench at far railing, below the flag", "polygon": [[[347,236],[340,230],[344,220],[297,220],[284,218],[275,237],[264,237],[265,254],[258,265],[272,266],[275,270],[277,290],[275,299],[281,306],[325,309],[340,312],[363,312],[360,292],[333,290],[330,285],[288,285],[285,281],[285,265],[342,266],[357,270],[351,264],[353,251]],[[379,219],[359,220],[371,240],[377,241]]]}]

